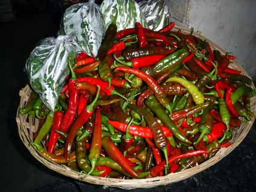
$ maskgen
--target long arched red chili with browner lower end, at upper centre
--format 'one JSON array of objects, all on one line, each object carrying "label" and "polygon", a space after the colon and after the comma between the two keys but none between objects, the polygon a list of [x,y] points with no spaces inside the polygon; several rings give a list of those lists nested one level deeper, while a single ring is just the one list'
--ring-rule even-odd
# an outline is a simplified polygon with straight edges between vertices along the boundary
[{"label": "long arched red chili with browner lower end, at upper centre", "polygon": [[132,69],[130,67],[116,67],[114,71],[117,71],[117,70],[120,70],[122,72],[132,73],[138,76],[139,78],[141,78],[148,85],[148,87],[154,91],[155,96],[157,97],[160,104],[163,105],[164,107],[169,107],[169,99],[164,93],[163,88],[161,88],[160,85],[157,84],[154,78],[152,78],[150,75],[147,75],[146,73],[143,73],[140,70]]}]

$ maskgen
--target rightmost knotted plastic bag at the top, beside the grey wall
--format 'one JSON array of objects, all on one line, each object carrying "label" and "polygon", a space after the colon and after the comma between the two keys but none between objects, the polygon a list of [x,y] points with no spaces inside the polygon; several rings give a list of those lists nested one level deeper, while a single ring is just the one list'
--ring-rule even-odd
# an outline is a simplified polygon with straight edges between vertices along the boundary
[{"label": "rightmost knotted plastic bag at the top, beside the grey wall", "polygon": [[140,1],[139,6],[150,29],[158,31],[169,24],[170,10],[164,0]]}]

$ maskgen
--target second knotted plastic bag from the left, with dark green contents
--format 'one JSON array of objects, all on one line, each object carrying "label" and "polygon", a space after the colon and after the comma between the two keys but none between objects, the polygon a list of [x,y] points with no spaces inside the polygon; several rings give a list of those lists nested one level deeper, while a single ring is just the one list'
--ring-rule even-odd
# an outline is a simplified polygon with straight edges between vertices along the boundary
[{"label": "second knotted plastic bag from the left, with dark green contents", "polygon": [[71,5],[63,14],[61,33],[73,34],[83,51],[96,57],[105,34],[105,23],[94,1]]}]

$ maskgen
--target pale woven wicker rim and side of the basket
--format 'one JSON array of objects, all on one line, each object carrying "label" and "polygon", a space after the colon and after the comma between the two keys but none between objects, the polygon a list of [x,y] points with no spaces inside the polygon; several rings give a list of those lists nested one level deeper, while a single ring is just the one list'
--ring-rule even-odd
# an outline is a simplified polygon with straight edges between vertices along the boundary
[{"label": "pale woven wicker rim and side of the basket", "polygon": [[[183,28],[182,26],[175,26],[174,31],[177,31],[178,29],[181,29],[183,33],[190,33],[190,29]],[[194,34],[194,36],[202,39],[207,40],[208,43],[210,43],[211,48],[219,50],[222,54],[225,54],[226,52],[223,51],[223,49],[219,48],[216,44],[211,42],[208,39],[205,39],[200,34]],[[233,64],[230,64],[230,66],[233,69],[241,70],[243,75],[248,76],[248,74],[245,72],[245,70],[240,66],[240,64],[233,62]],[[252,84],[252,86],[255,88],[255,85]],[[19,108],[24,107],[27,104],[28,98],[30,97],[31,89],[27,85],[25,88],[22,88],[20,90],[20,104]],[[251,110],[255,114],[256,111],[256,97],[251,98]],[[85,179],[81,179],[81,175],[79,172],[76,172],[72,169],[70,169],[67,166],[55,164],[52,163],[37,152],[37,150],[34,149],[33,146],[30,146],[30,142],[33,141],[33,134],[36,132],[39,120],[34,117],[28,117],[28,115],[21,115],[19,114],[19,108],[17,109],[17,116],[16,116],[16,122],[17,127],[20,135],[20,139],[25,144],[27,149],[30,151],[30,153],[38,160],[40,163],[44,164],[46,167],[48,167],[51,170],[54,170],[55,172],[58,172],[62,175],[69,176],[71,178],[79,179],[84,182],[89,182],[91,184],[98,184],[98,185],[107,185],[110,187],[119,187],[124,189],[133,189],[133,188],[150,188],[155,187],[157,185],[166,185],[170,184],[172,182],[178,182],[183,179],[189,178],[190,176],[195,175],[196,173],[201,172],[202,170],[207,169],[210,166],[213,166],[213,164],[217,163],[228,155],[232,150],[234,150],[246,137],[246,135],[249,132],[249,129],[251,129],[254,119],[252,119],[249,122],[242,123],[240,129],[238,129],[236,132],[234,132],[234,137],[231,140],[231,145],[227,148],[220,149],[216,155],[214,155],[212,158],[208,159],[204,163],[200,164],[199,166],[192,167],[188,170],[184,170],[182,172],[178,173],[170,173],[166,176],[161,176],[157,178],[149,178],[149,179],[113,179],[113,178],[101,178],[96,176],[87,176]]]}]

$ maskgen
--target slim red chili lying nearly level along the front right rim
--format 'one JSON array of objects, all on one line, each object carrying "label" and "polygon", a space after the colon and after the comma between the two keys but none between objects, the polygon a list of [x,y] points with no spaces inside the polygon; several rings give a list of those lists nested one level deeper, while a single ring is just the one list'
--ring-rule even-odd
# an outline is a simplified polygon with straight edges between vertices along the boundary
[{"label": "slim red chili lying nearly level along the front right rim", "polygon": [[[186,153],[183,153],[181,155],[173,155],[173,156],[170,156],[168,158],[168,163],[172,164],[173,162],[175,162],[178,159],[183,159],[183,158],[187,158],[187,157],[191,157],[191,156],[201,155],[201,154],[204,154],[204,153],[207,153],[207,150],[192,150],[192,151],[188,151]],[[162,161],[157,166],[152,167],[152,169],[150,170],[149,175],[152,178],[156,177],[160,172],[162,172],[164,170],[165,164],[166,164],[166,162]]]}]

